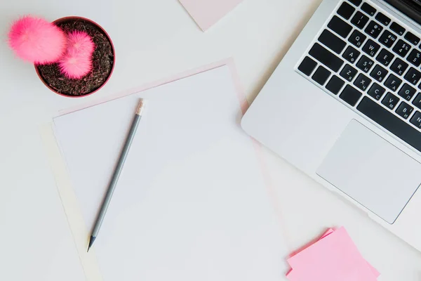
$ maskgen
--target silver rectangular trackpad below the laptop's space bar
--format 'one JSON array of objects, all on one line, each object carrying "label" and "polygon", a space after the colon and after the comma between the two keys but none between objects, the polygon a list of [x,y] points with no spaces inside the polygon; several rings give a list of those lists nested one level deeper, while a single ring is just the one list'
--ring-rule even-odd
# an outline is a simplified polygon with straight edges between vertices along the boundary
[{"label": "silver rectangular trackpad below the laptop's space bar", "polygon": [[316,173],[388,223],[421,183],[421,164],[356,120]]}]

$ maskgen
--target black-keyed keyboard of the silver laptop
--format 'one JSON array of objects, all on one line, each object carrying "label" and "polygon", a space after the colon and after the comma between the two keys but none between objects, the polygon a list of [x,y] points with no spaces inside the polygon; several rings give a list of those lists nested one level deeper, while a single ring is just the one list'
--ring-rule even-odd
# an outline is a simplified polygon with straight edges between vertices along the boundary
[{"label": "black-keyed keyboard of the silver laptop", "polygon": [[421,35],[392,18],[341,1],[297,71],[421,152]]}]

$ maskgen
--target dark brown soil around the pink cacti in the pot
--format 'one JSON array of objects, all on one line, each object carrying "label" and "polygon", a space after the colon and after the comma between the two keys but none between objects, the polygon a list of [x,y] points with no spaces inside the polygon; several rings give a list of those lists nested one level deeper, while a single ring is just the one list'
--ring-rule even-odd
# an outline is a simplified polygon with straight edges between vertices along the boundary
[{"label": "dark brown soil around the pink cacti in the pot", "polygon": [[95,44],[93,68],[81,79],[69,79],[60,72],[57,63],[36,65],[39,77],[48,88],[64,96],[86,96],[100,89],[111,75],[114,67],[114,48],[107,34],[94,22],[83,18],[62,18],[56,20],[55,25],[66,33],[80,30],[91,36]]}]

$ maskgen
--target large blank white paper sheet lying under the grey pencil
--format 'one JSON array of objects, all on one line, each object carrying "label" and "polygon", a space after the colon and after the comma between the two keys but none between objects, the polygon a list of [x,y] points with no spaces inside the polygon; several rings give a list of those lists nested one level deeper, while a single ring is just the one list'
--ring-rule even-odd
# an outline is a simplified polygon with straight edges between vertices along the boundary
[{"label": "large blank white paper sheet lying under the grey pencil", "polygon": [[86,226],[139,98],[147,110],[94,246],[104,280],[280,280],[286,249],[227,66],[55,118]]}]

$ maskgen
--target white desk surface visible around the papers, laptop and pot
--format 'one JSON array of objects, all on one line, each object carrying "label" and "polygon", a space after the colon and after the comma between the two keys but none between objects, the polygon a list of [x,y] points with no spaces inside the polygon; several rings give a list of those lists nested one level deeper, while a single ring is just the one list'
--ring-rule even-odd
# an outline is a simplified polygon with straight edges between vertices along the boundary
[{"label": "white desk surface visible around the papers, laptop and pot", "polygon": [[[39,126],[60,110],[231,56],[253,100],[318,5],[319,0],[244,0],[203,33],[177,0],[3,1],[0,280],[84,280]],[[27,13],[48,20],[80,15],[100,23],[116,48],[116,67],[107,86],[81,99],[46,89],[34,68],[14,58],[5,43],[10,22]],[[327,227],[345,226],[363,256],[382,273],[379,280],[421,280],[421,253],[279,157],[270,152],[265,157],[283,226],[280,239],[291,251]]]}]

